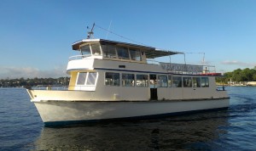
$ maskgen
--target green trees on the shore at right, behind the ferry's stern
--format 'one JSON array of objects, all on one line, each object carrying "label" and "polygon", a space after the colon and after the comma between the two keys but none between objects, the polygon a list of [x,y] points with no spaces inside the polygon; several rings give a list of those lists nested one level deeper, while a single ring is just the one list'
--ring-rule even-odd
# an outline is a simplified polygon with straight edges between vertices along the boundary
[{"label": "green trees on the shore at right, behind the ferry's stern", "polygon": [[253,69],[246,68],[244,70],[237,69],[224,73],[224,77],[217,78],[217,82],[228,83],[228,81],[256,81],[256,67]]}]

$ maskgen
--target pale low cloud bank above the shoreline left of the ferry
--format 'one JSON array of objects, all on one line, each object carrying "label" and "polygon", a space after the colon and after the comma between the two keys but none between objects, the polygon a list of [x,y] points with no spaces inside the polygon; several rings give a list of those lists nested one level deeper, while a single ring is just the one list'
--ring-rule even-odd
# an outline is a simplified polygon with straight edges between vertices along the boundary
[{"label": "pale low cloud bank above the shoreline left of the ferry", "polygon": [[32,67],[2,67],[0,66],[0,79],[15,79],[15,78],[57,78],[61,76],[67,76],[66,68],[57,66],[50,70],[39,70]]}]

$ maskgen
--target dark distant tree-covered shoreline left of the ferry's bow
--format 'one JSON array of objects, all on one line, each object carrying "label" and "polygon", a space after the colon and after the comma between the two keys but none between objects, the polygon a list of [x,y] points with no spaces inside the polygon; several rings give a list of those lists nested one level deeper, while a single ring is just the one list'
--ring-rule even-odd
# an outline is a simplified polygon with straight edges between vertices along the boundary
[{"label": "dark distant tree-covered shoreline left of the ferry's bow", "polygon": [[17,79],[5,79],[0,80],[0,87],[34,87],[38,85],[60,85],[66,86],[69,83],[69,77],[59,78],[17,78]]}]

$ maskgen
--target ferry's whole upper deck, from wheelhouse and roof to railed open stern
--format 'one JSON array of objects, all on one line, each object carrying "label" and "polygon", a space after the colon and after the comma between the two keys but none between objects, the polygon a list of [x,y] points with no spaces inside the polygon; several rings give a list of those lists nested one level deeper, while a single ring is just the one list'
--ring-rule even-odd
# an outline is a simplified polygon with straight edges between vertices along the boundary
[{"label": "ferry's whole upper deck, from wheelhouse and roof to railed open stern", "polygon": [[[219,74],[216,74],[215,66],[211,65],[157,62],[154,60],[155,58],[183,53],[160,50],[132,43],[114,42],[104,39],[84,39],[79,42],[74,42],[73,50],[79,51],[80,55],[72,56],[69,58],[70,62],[68,64],[67,70],[92,70],[94,68],[94,59],[105,59],[121,61],[124,63],[157,64],[160,66],[160,70],[164,70],[173,74],[220,76]],[[128,67],[129,65],[126,66]],[[140,65],[137,64],[137,66]],[[114,65],[112,68],[114,68]],[[135,67],[133,66],[132,68]],[[153,66],[151,66],[151,68],[151,70],[155,71]],[[143,67],[140,70],[143,70]],[[213,74],[209,75],[209,73]]]}]

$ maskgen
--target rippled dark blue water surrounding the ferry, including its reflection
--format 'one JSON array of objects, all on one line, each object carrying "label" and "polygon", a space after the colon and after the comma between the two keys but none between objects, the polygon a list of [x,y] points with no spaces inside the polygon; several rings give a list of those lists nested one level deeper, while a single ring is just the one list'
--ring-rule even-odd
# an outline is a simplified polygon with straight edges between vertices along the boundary
[{"label": "rippled dark blue water surrounding the ferry, including its reflection", "polygon": [[0,150],[256,150],[256,87],[230,109],[157,120],[44,127],[22,88],[0,88]]}]

